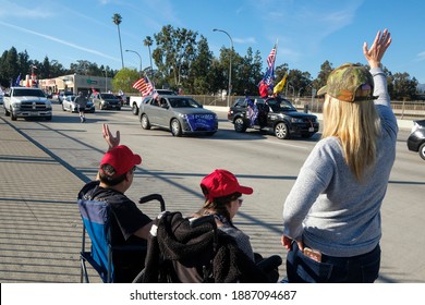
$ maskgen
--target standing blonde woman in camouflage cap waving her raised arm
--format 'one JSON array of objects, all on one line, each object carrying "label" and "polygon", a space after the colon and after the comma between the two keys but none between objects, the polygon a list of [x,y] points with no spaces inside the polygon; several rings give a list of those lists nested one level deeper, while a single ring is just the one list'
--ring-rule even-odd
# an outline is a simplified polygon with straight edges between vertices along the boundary
[{"label": "standing blonde woman in camouflage cap waving her raised arm", "polygon": [[374,282],[380,266],[380,206],[396,158],[397,120],[381,59],[390,33],[363,53],[371,70],[343,64],[325,94],[324,133],[283,208],[289,282]]}]

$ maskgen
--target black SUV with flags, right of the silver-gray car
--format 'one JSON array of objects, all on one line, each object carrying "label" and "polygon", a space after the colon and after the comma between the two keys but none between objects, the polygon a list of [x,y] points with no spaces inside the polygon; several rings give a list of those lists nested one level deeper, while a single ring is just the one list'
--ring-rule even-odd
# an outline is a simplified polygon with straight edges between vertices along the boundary
[{"label": "black SUV with flags, right of the silver-gray car", "polygon": [[292,135],[312,137],[319,130],[317,117],[298,112],[295,107],[284,98],[255,98],[251,106],[245,98],[239,98],[230,107],[228,119],[236,132],[257,129],[274,133],[278,138],[290,138]]}]

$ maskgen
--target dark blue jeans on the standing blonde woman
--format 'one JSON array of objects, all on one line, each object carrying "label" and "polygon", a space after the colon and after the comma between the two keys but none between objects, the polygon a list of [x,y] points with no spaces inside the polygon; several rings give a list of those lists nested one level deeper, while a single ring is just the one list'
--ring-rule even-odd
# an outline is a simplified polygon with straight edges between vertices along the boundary
[{"label": "dark blue jeans on the standing blonde woman", "polygon": [[321,261],[306,257],[292,243],[287,255],[287,276],[290,283],[373,283],[379,273],[379,244],[369,253],[353,257],[321,255]]}]

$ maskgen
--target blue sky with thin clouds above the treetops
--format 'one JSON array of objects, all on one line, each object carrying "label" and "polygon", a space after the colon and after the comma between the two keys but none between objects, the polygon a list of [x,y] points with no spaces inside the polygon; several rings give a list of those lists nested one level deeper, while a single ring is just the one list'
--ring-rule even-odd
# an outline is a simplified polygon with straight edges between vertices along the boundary
[{"label": "blue sky with thin clouds above the treetops", "polygon": [[425,1],[422,0],[0,0],[0,51],[12,46],[31,59],[77,60],[121,69],[117,26],[122,16],[124,65],[149,65],[146,36],[163,25],[187,28],[207,38],[216,57],[232,37],[241,56],[252,47],[266,57],[278,41],[276,65],[307,71],[316,77],[329,60],[365,63],[363,41],[388,27],[393,42],[384,58],[392,73],[408,72],[425,83]]}]

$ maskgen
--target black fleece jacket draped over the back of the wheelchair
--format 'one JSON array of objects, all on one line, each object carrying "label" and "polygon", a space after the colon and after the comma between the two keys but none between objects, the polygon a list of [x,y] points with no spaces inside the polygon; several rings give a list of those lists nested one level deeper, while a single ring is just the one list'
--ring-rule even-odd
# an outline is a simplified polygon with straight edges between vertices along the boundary
[{"label": "black fleece jacket draped over the back of the wheelchair", "polygon": [[[166,211],[154,221],[150,232],[143,282],[167,282],[170,278],[173,282],[268,282],[264,271],[238,247],[233,237],[220,230],[212,231],[209,223],[191,228],[189,219],[180,212]],[[187,276],[187,270],[198,274]],[[208,271],[208,280],[203,270]]]}]

